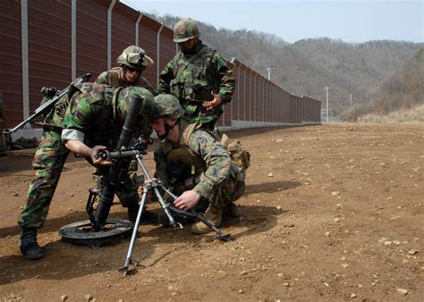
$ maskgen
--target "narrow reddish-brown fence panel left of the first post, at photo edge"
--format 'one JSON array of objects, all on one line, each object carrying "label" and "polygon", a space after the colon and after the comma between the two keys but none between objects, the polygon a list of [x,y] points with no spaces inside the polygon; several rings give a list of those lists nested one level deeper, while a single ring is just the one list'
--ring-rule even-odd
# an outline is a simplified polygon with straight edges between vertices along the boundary
[{"label": "narrow reddish-brown fence panel left of the first post, at photo edge", "polygon": [[21,4],[0,2],[0,92],[8,125],[22,121]]}]

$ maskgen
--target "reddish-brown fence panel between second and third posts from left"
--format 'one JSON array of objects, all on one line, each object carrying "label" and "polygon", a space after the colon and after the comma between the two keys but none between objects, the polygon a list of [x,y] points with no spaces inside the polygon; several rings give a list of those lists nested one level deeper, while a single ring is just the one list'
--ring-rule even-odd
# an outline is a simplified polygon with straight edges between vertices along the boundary
[{"label": "reddish-brown fence panel between second and third posts from left", "polygon": [[[90,72],[96,80],[107,69],[107,2],[77,1],[76,76]],[[114,65],[114,64],[112,64]]]}]

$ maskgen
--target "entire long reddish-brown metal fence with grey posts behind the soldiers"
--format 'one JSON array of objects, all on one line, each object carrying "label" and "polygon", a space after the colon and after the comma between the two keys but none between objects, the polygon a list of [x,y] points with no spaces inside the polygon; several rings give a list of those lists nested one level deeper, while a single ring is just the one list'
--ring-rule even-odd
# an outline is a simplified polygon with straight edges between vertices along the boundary
[{"label": "entire long reddish-brown metal fence with grey posts behind the soldiers", "polygon": [[[158,73],[177,50],[172,29],[116,0],[4,0],[0,25],[7,127],[33,113],[42,86],[64,88],[86,72],[94,80],[129,45],[141,46],[155,61],[143,76],[156,88]],[[293,96],[238,60],[233,60],[233,74],[237,88],[219,126],[320,122],[320,101]]]}]

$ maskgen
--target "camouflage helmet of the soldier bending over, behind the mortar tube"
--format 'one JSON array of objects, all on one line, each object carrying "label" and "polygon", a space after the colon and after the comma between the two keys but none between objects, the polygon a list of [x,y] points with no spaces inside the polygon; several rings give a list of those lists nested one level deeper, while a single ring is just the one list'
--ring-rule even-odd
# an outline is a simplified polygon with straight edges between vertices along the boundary
[{"label": "camouflage helmet of the soldier bending over, behind the mortar tube", "polygon": [[130,109],[132,97],[140,95],[144,101],[140,108],[139,121],[150,122],[151,116],[156,114],[156,106],[153,95],[148,89],[142,87],[117,88],[114,90],[114,119],[125,121],[126,114]]}]

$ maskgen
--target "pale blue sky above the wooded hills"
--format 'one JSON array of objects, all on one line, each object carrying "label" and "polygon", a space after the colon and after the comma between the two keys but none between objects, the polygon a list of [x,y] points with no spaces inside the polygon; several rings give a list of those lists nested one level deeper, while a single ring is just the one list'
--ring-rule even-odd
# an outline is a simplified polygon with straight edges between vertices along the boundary
[{"label": "pale blue sky above the wooded hills", "polygon": [[142,13],[191,18],[216,29],[304,38],[424,42],[424,0],[121,0]]}]

